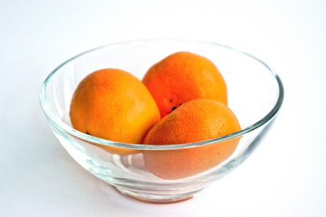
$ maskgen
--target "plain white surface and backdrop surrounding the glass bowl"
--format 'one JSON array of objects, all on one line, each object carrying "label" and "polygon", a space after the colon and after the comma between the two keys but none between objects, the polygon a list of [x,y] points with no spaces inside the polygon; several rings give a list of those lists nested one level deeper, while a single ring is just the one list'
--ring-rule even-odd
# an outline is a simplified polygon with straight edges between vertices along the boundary
[{"label": "plain white surface and backdrop surrounding the glass bowl", "polygon": [[[0,1],[0,216],[326,216],[325,11],[321,0]],[[90,175],[38,101],[45,77],[73,55],[158,37],[250,52],[285,87],[253,156],[183,203],[141,203]]]}]

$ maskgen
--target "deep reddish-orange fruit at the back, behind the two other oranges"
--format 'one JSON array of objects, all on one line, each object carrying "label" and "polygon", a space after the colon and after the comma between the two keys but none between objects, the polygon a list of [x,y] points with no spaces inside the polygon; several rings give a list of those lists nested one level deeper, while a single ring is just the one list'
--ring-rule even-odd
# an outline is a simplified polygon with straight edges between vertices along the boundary
[{"label": "deep reddish-orange fruit at the back, behind the two other oranges", "polygon": [[150,67],[143,80],[156,100],[161,117],[191,99],[215,99],[227,105],[222,74],[206,57],[175,52]]}]

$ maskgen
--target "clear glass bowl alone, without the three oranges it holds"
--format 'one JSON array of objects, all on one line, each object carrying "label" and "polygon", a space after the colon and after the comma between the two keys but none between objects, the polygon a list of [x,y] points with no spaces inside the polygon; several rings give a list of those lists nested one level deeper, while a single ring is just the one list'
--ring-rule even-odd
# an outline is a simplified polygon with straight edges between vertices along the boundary
[{"label": "clear glass bowl alone, without the three oranges it holds", "polygon": [[[72,128],[69,118],[72,93],[87,74],[117,68],[141,80],[151,65],[179,51],[200,54],[216,64],[225,78],[228,106],[242,130],[197,143],[152,146],[118,143]],[[283,84],[264,61],[229,46],[187,40],[138,40],[101,46],[63,62],[43,82],[40,99],[54,135],[92,175],[139,200],[172,203],[193,197],[244,162],[272,126],[283,103]],[[189,150],[200,153],[203,149],[227,146],[235,139],[239,143],[231,156],[187,177],[159,178],[144,164],[145,155],[181,156]],[[210,157],[214,162],[218,155]]]}]

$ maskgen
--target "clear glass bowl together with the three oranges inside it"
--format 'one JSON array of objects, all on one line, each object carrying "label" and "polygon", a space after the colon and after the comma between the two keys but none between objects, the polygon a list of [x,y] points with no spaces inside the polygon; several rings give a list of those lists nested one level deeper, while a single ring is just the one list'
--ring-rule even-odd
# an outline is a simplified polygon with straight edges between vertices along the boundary
[{"label": "clear glass bowl together with the three oranges inside it", "polygon": [[250,156],[277,117],[283,85],[263,61],[225,45],[145,40],[64,62],[40,99],[54,135],[83,168],[120,193],[169,203]]}]

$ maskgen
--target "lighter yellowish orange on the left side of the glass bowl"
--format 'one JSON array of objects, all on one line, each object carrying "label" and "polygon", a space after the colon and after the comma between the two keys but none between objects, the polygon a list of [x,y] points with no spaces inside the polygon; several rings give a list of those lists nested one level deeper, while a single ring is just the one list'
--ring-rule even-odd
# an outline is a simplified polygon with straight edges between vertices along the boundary
[{"label": "lighter yellowish orange on the left side of the glass bowl", "polygon": [[[160,116],[145,85],[127,71],[104,69],[84,78],[72,96],[72,127],[94,137],[141,144]],[[108,147],[113,153],[129,150]]]}]

